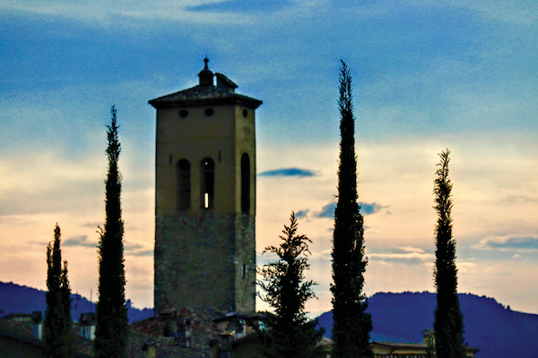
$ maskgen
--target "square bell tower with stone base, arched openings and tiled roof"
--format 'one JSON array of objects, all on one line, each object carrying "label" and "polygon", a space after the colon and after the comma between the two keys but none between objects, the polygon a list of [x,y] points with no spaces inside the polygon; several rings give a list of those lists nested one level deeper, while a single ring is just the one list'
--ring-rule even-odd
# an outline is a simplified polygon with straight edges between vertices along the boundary
[{"label": "square bell tower with stone base, arched openings and tiled roof", "polygon": [[256,311],[255,110],[262,101],[236,93],[208,62],[197,86],[149,101],[157,110],[156,313]]}]

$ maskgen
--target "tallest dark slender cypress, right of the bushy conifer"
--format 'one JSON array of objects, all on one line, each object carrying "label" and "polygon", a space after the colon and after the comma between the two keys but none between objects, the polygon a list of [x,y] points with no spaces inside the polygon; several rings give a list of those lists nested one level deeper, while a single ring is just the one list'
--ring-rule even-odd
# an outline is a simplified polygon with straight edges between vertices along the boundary
[{"label": "tallest dark slender cypress, right of the bushy conifer", "polygon": [[357,157],[351,73],[342,61],[340,71],[340,163],[338,202],[333,234],[333,354],[334,358],[372,357],[371,315],[362,292],[368,260],[364,254],[364,228],[357,202]]}]

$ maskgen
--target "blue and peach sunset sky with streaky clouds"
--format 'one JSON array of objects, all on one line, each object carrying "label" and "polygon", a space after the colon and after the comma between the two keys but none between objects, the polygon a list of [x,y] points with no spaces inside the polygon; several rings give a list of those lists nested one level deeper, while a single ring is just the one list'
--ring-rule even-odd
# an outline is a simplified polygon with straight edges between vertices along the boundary
[{"label": "blue and peach sunset sky with streaky clouds", "polygon": [[[155,110],[207,55],[256,110],[256,251],[291,211],[331,309],[338,75],[351,70],[364,292],[434,292],[433,181],[449,149],[458,290],[538,313],[534,1],[0,0],[0,281],[45,289],[56,223],[97,299],[106,125],[122,145],[126,296],[153,304]],[[265,309],[257,303],[258,309]]]}]

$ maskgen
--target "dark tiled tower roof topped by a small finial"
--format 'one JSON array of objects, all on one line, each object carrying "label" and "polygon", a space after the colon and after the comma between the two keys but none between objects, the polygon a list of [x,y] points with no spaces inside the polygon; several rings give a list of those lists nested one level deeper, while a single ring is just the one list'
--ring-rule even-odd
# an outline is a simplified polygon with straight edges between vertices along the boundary
[{"label": "dark tiled tower roof topped by a small finial", "polygon": [[214,74],[207,66],[208,62],[207,57],[204,58],[204,69],[198,73],[200,84],[187,90],[154,98],[149,101],[149,104],[155,108],[239,105],[256,109],[263,103],[259,99],[235,93],[238,85],[222,73],[217,73],[217,86],[215,87],[213,85]]}]

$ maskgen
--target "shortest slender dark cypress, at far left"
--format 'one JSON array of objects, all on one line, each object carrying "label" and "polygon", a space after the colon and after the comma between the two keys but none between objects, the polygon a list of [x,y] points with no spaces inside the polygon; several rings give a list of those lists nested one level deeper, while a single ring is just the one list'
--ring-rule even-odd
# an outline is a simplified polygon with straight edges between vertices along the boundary
[{"label": "shortest slender dark cypress, at far left", "polygon": [[54,243],[47,245],[47,311],[43,327],[43,354],[50,358],[74,357],[71,327],[71,289],[67,261],[62,267],[60,226],[54,229]]}]

